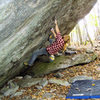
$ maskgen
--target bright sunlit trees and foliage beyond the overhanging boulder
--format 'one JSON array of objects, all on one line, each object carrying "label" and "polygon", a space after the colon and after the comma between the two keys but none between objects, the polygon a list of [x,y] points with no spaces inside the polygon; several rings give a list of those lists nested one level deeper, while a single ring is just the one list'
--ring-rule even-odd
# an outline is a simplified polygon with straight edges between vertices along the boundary
[{"label": "bright sunlit trees and foliage beyond the overhanging boulder", "polygon": [[[90,43],[95,39],[93,37],[96,34],[96,28],[99,27],[100,17],[98,17],[99,12],[97,12],[98,8],[93,8],[93,10],[88,14],[81,23],[78,23],[76,27],[71,31],[71,42],[73,43],[82,43],[84,45],[88,44],[87,38]],[[98,13],[98,14],[97,14]],[[89,32],[90,31],[90,32]],[[94,35],[95,36],[95,35]],[[93,45],[93,44],[92,44]]]}]

